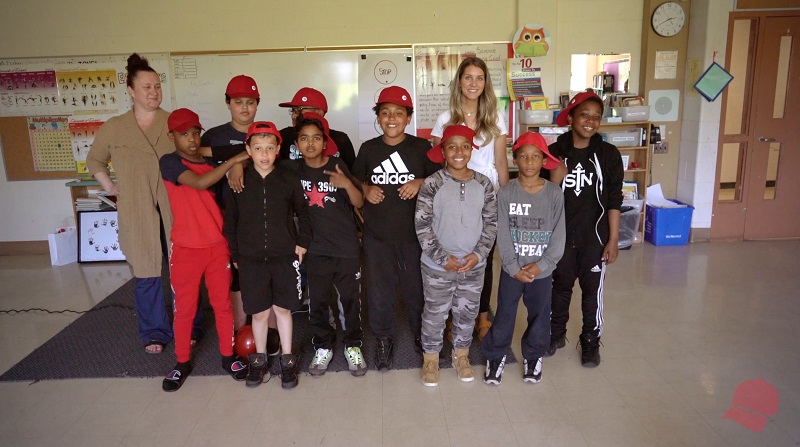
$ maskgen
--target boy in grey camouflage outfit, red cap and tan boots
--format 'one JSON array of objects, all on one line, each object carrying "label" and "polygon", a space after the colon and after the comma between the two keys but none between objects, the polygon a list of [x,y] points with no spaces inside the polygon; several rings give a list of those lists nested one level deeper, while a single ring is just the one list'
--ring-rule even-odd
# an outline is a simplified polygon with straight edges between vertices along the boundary
[{"label": "boy in grey camouflage outfit, red cap and tan boots", "polygon": [[425,179],[417,198],[415,228],[422,247],[423,365],[425,386],[439,384],[439,352],[445,320],[453,312],[453,368],[471,382],[472,331],[478,316],[489,250],[497,235],[497,202],[491,179],[468,167],[475,131],[464,125],[444,129],[441,143],[428,151],[435,163],[446,162]]}]

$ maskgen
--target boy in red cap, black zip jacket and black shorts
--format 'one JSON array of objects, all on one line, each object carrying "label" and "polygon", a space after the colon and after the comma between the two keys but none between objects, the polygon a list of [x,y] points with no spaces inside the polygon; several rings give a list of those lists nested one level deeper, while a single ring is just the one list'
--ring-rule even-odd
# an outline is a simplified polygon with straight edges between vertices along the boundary
[{"label": "boy in red cap, black zip jacket and black shorts", "polygon": [[[242,304],[253,316],[256,353],[248,357],[248,387],[267,375],[267,321],[275,313],[281,338],[281,386],[297,386],[297,356],[292,354],[292,311],[302,303],[300,263],[311,242],[308,206],[298,175],[275,165],[281,134],[274,124],[256,121],[247,130],[244,168],[247,188],[227,189],[225,225],[242,287]],[[295,218],[297,227],[295,227]],[[299,228],[299,230],[298,230]]]}]

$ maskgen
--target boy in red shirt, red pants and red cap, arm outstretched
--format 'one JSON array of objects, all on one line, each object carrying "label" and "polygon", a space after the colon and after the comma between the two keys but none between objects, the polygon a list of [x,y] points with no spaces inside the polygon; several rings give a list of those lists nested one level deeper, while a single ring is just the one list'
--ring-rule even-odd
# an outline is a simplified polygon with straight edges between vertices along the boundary
[{"label": "boy in red shirt, red pants and red cap, arm outstretched", "polygon": [[216,168],[207,163],[197,151],[203,129],[200,118],[189,109],[172,112],[167,125],[176,150],[161,157],[159,164],[174,219],[169,265],[177,364],[164,379],[162,389],[177,391],[192,371],[192,320],[203,277],[214,308],[222,367],[234,379],[244,380],[245,365],[233,355],[233,313],[228,296],[230,253],[222,234],[222,213],[209,188],[247,156],[231,158]]}]

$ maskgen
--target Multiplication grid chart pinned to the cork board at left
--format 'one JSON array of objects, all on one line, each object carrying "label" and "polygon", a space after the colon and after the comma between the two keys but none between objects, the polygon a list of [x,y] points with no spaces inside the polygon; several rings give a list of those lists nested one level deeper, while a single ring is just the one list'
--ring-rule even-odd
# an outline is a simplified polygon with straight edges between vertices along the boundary
[{"label": "Multiplication grid chart pinned to the cork board at left", "polygon": [[34,171],[75,169],[72,139],[66,116],[28,117]]}]

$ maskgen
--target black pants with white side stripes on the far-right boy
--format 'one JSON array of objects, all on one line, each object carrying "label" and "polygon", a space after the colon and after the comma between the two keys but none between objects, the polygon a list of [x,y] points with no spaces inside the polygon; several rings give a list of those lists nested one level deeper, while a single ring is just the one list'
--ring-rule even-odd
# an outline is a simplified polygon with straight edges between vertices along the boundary
[{"label": "black pants with white side stripes on the far-right boy", "polygon": [[553,272],[553,314],[550,319],[550,336],[562,337],[567,333],[569,303],[575,279],[581,286],[582,334],[598,337],[603,331],[603,280],[606,263],[601,259],[603,246],[564,248],[564,256]]}]

